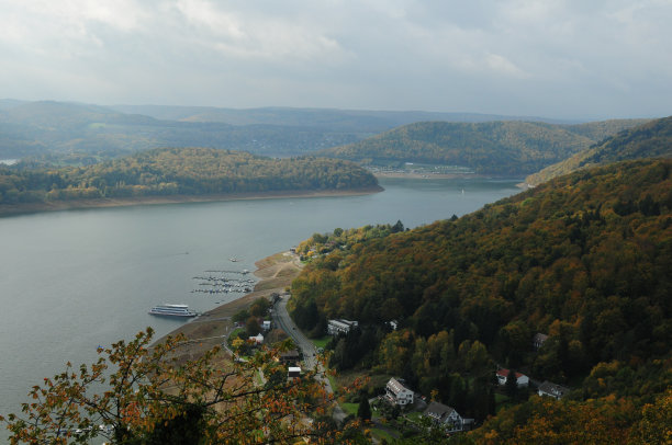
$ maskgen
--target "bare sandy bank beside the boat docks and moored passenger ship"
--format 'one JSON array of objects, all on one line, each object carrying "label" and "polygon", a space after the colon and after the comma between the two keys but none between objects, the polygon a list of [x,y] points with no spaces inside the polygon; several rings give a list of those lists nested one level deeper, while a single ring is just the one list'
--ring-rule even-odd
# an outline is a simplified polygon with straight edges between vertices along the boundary
[{"label": "bare sandy bank beside the boat docks and moored passenger ship", "polygon": [[[259,282],[251,293],[209,310],[169,333],[169,335],[182,334],[188,339],[188,345],[182,350],[182,358],[198,358],[205,351],[221,345],[233,330],[232,316],[249,307],[257,298],[270,298],[273,293],[284,293],[303,267],[299,258],[291,252],[276,253],[257,261],[255,265],[257,270],[254,274]],[[164,339],[165,336],[157,342]]]}]

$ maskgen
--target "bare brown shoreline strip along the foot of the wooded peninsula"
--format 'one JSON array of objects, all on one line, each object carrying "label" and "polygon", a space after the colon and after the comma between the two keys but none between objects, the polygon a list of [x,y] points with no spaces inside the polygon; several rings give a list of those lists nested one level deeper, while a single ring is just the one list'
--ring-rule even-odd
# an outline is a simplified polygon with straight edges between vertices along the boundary
[{"label": "bare brown shoreline strip along the foot of the wooded peninsula", "polygon": [[170,195],[170,196],[134,196],[115,198],[92,198],[75,201],[48,201],[24,204],[1,204],[0,217],[42,212],[63,212],[88,208],[128,207],[143,205],[165,205],[183,203],[211,203],[243,199],[282,199],[294,197],[358,196],[382,192],[380,185],[349,190],[294,190],[264,193],[226,193],[216,195]]}]

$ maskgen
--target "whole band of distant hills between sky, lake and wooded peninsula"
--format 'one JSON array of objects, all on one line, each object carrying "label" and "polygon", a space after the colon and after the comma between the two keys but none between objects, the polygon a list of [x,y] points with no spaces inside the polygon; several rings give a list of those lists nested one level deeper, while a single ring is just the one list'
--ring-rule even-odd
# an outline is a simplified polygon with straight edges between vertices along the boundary
[{"label": "whole band of distant hills between sky, lake and wooded peninsula", "polygon": [[484,174],[522,175],[646,122],[541,121],[468,113],[109,107],[3,100],[0,159],[90,153],[75,159],[91,163],[156,147],[198,146],[271,157],[318,153],[367,164],[425,162],[459,166]]}]

